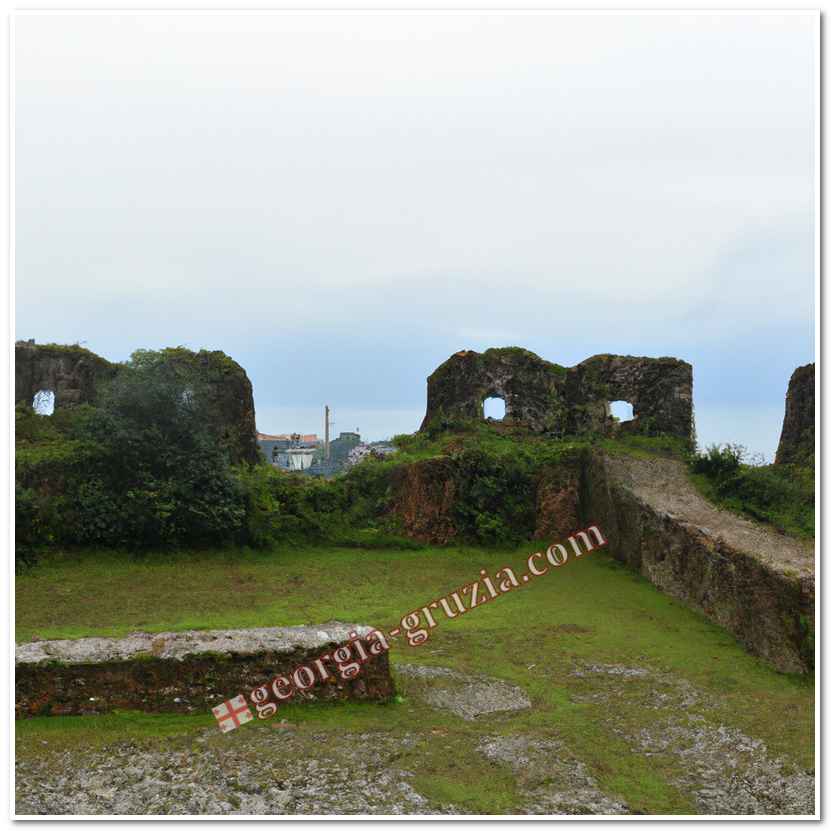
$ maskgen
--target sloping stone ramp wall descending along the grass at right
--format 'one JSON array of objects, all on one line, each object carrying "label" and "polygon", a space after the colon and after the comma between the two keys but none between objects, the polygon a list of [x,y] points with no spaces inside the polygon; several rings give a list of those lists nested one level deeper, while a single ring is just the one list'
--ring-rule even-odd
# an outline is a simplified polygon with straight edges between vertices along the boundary
[{"label": "sloping stone ramp wall descending along the grass at right", "polygon": [[614,557],[782,672],[813,667],[807,544],[709,505],[672,459],[592,454],[587,510]]}]

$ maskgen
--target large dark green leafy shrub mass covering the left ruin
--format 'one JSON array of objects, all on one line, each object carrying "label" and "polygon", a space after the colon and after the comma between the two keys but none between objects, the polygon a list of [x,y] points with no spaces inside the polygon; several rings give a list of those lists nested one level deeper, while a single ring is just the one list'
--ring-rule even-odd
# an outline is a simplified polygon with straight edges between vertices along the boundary
[{"label": "large dark green leafy shrub mass covering the left ruin", "polygon": [[17,513],[28,545],[222,542],[245,518],[192,371],[143,352],[97,405],[16,412]]}]

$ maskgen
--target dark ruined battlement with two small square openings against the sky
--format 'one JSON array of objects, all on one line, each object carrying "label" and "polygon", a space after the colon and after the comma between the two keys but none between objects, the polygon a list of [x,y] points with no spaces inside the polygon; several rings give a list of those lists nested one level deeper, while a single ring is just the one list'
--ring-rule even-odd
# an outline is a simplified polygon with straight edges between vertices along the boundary
[{"label": "dark ruined battlement with two small square openings against the sky", "polygon": [[463,351],[427,379],[422,430],[483,418],[488,397],[505,401],[506,424],[554,436],[617,429],[609,402],[632,404],[632,432],[693,436],[692,367],[675,358],[596,355],[575,367],[550,363],[526,349]]}]

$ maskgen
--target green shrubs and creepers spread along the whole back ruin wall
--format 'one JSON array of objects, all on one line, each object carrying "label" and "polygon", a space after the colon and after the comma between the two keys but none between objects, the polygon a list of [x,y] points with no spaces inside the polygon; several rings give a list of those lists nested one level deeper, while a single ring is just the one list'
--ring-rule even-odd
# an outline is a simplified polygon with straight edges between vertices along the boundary
[{"label": "green shrubs and creepers spread along the whole back ruin wall", "polygon": [[[267,464],[235,466],[229,446],[210,431],[210,374],[206,379],[194,367],[200,360],[220,373],[236,371],[230,359],[226,366],[217,357],[224,356],[140,351],[94,406],[51,417],[17,408],[18,564],[49,546],[418,547],[395,516],[393,485],[402,466],[425,462],[428,481],[449,471],[457,541],[517,544],[533,537],[541,477],[579,470],[581,454],[598,442],[608,452],[687,458],[708,498],[789,533],[813,534],[807,473],[741,460],[732,468],[707,467],[701,461],[707,457],[689,456],[681,440],[666,436],[559,440],[470,420],[448,431],[397,436],[394,456],[367,459],[332,480]],[[436,459],[445,463],[430,466]]]}]

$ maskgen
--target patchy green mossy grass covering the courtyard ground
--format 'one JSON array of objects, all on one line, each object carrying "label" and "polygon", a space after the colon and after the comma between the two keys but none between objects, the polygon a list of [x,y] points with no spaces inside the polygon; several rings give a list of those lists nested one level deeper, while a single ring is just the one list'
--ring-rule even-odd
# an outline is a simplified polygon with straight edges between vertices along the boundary
[{"label": "patchy green mossy grass covering the courtyard ground", "polygon": [[[63,555],[17,578],[17,640],[329,620],[388,631],[411,609],[476,579],[480,568],[493,574],[510,564],[524,572],[531,550],[226,550],[142,560],[111,552]],[[640,694],[634,685],[632,697],[610,712],[608,703],[581,695],[587,681],[572,671],[587,662],[648,667],[688,681],[704,693],[708,720],[738,727],[763,739],[773,754],[813,768],[812,681],[774,672],[728,632],[602,551],[442,620],[421,647],[398,641],[391,661],[502,678],[526,690],[534,706],[484,724],[464,722],[412,700],[401,677],[396,704],[306,705],[286,708],[285,717],[332,732],[417,731],[426,739],[413,751],[416,786],[472,810],[509,810],[514,799],[512,783],[497,781],[498,771],[484,762],[480,770],[475,754],[465,755],[470,764],[452,761],[453,749],[469,748],[484,729],[562,739],[604,789],[635,810],[691,810],[672,785],[673,763],[633,753],[620,738],[621,729],[632,734],[655,718],[643,698],[649,691]],[[31,719],[17,725],[18,752],[43,752],[42,742],[55,750],[124,739],[187,741],[212,724],[209,713]]]}]

